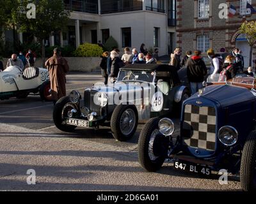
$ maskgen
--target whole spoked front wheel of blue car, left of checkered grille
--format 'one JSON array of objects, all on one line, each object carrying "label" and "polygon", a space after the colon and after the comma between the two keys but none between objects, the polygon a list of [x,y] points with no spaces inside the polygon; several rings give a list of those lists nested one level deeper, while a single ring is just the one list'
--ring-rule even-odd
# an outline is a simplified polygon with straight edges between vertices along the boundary
[{"label": "whole spoked front wheel of blue car, left of checkered grille", "polygon": [[157,171],[163,166],[168,154],[168,138],[159,134],[159,119],[151,119],[141,131],[138,143],[138,159],[147,171]]}]

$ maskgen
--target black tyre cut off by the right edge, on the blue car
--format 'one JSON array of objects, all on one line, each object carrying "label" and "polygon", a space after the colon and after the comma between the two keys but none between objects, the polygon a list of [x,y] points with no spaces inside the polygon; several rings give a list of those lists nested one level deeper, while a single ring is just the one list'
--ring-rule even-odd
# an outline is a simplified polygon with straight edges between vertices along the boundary
[{"label": "black tyre cut off by the right edge, on the blue car", "polygon": [[252,131],[243,149],[240,169],[243,191],[256,191],[256,131]]}]

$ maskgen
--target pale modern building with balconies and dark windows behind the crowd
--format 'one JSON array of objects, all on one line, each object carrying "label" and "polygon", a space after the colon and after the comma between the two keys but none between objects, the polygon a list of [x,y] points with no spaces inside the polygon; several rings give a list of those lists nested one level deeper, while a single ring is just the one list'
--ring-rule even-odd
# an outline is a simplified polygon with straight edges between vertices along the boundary
[{"label": "pale modern building with balconies and dark windows behind the crowd", "polygon": [[[176,0],[64,0],[70,22],[62,33],[52,34],[46,45],[103,44],[109,36],[118,47],[159,48],[166,55],[175,47]],[[20,34],[20,41],[24,34]]]}]

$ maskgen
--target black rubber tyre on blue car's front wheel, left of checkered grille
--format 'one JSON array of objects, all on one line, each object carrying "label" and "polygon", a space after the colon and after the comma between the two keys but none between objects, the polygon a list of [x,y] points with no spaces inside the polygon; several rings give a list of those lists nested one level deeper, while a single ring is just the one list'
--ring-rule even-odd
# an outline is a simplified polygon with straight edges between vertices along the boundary
[{"label": "black rubber tyre on blue car's front wheel, left of checkered grille", "polygon": [[[150,172],[155,172],[157,170],[159,170],[162,166],[163,163],[166,159],[167,156],[167,152],[168,152],[168,141],[166,141],[166,147],[164,147],[164,149],[166,149],[166,156],[164,156],[164,154],[161,156],[155,156],[154,155],[154,146],[155,145],[155,140],[156,140],[156,136],[153,140],[153,145],[150,146],[150,142],[152,141],[152,138],[154,137],[154,131],[158,130],[158,123],[159,123],[159,118],[154,118],[154,119],[150,119],[147,124],[145,124],[145,126],[143,127],[143,129],[141,130],[141,134],[140,134],[140,138],[139,138],[139,142],[138,142],[138,159],[139,162],[141,164],[141,166],[146,170],[146,171],[150,171]],[[153,136],[153,137],[152,137]],[[166,140],[166,138],[165,138]],[[152,150],[150,151],[150,148],[152,148]],[[164,151],[164,149],[161,149],[160,151]],[[150,158],[150,156],[152,157],[156,157],[154,159]]]}]

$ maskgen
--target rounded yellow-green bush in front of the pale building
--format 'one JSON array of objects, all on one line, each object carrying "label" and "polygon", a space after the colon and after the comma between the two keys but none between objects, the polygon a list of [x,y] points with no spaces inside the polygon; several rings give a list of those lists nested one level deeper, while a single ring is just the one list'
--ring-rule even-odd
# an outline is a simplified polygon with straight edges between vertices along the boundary
[{"label": "rounded yellow-green bush in front of the pale building", "polygon": [[97,44],[84,43],[80,45],[74,55],[76,57],[100,57],[102,55],[103,49]]}]

